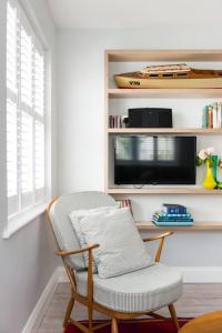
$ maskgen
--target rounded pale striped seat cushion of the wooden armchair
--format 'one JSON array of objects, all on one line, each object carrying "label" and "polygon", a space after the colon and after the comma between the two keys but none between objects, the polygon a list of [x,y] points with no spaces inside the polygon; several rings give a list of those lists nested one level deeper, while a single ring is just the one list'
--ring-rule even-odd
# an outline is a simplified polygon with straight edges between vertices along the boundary
[{"label": "rounded pale striped seat cushion of the wooden armchair", "polygon": [[[83,296],[87,296],[87,272],[77,273],[78,292]],[[157,310],[173,303],[181,294],[181,274],[160,263],[110,279],[93,274],[94,302],[119,312]]]}]

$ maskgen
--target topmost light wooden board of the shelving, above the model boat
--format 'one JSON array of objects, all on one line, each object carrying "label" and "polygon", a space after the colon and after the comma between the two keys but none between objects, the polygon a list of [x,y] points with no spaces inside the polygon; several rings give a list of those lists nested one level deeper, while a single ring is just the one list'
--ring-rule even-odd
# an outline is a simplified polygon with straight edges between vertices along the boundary
[{"label": "topmost light wooden board of the shelving, above the model boat", "polygon": [[222,50],[107,50],[110,62],[222,61]]}]

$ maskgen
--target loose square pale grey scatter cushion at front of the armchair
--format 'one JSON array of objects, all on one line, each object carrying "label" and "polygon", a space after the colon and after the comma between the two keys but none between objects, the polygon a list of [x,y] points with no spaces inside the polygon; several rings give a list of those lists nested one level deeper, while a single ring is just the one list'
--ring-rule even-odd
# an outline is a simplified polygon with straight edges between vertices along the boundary
[{"label": "loose square pale grey scatter cushion at front of the armchair", "polygon": [[[77,220],[73,228],[75,223]],[[88,244],[100,244],[92,252],[100,278],[121,275],[152,264],[128,208],[91,213],[78,223]]]}]

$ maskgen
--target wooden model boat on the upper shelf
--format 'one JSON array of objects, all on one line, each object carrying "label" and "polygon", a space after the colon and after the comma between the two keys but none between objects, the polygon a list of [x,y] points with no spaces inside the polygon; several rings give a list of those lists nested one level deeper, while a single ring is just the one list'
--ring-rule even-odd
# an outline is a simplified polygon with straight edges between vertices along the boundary
[{"label": "wooden model boat on the upper shelf", "polygon": [[184,88],[222,88],[222,70],[192,69],[185,63],[152,65],[139,72],[114,75],[119,88],[184,89]]}]

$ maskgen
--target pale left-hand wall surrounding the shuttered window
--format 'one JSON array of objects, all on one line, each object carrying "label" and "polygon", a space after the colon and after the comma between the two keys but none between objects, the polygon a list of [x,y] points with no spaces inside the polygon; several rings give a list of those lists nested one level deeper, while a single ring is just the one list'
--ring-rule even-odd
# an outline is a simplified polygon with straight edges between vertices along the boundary
[{"label": "pale left-hand wall surrounding the shuttered window", "polygon": [[[22,1],[29,3],[39,20],[42,31],[49,41],[52,52],[52,77],[56,67],[56,28],[44,0]],[[0,123],[1,133],[6,132],[6,0],[0,1]],[[56,93],[52,85],[52,138],[56,138]],[[57,179],[56,141],[52,145],[52,178]],[[54,242],[44,221],[43,215],[30,222],[9,240],[2,240],[1,235],[7,222],[6,200],[6,147],[0,142],[0,332],[21,332],[29,315],[49,279],[58,265],[53,255]],[[56,191],[56,186],[53,188]]]}]

